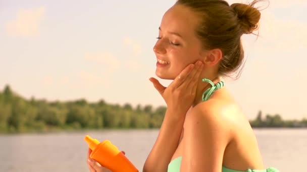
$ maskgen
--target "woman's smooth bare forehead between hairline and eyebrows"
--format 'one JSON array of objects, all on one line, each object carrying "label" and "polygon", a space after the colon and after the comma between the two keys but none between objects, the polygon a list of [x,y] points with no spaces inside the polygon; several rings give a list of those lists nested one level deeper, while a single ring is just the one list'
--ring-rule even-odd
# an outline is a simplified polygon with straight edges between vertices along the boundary
[{"label": "woman's smooth bare forehead between hairline and eyebrows", "polygon": [[198,17],[189,8],[183,5],[174,5],[163,16],[161,29],[169,32],[178,32],[183,37],[195,35]]}]

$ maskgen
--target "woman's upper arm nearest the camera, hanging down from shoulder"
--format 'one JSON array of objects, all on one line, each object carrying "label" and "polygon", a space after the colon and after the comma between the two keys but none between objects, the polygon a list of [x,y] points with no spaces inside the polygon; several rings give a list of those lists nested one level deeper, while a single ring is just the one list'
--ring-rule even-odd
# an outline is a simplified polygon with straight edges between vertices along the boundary
[{"label": "woman's upper arm nearest the camera, hanging down from shoulder", "polygon": [[190,111],[185,120],[180,171],[222,171],[224,150],[231,138],[222,109],[208,101]]}]

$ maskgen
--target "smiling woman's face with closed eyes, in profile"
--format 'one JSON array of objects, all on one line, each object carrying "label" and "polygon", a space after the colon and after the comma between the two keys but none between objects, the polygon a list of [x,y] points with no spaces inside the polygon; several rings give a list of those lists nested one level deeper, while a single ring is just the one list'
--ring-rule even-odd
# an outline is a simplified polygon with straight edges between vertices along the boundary
[{"label": "smiling woman's face with closed eyes, in profile", "polygon": [[174,79],[188,64],[202,59],[205,51],[196,37],[197,22],[197,16],[182,5],[175,5],[165,13],[154,46],[158,77]]}]

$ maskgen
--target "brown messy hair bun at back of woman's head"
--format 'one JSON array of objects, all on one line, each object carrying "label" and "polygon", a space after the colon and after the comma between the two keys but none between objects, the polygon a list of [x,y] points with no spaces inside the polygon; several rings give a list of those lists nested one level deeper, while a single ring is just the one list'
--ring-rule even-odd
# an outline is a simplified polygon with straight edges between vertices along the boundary
[{"label": "brown messy hair bun at back of woman's head", "polygon": [[230,6],[237,14],[242,34],[250,34],[259,28],[261,14],[253,7],[259,1],[261,0],[255,0],[249,5],[235,3]]}]

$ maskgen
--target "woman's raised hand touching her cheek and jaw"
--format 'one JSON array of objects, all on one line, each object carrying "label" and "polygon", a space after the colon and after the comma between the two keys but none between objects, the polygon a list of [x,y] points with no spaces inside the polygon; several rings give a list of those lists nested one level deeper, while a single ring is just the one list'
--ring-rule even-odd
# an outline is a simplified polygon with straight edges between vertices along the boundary
[{"label": "woman's raised hand touching her cheek and jaw", "polygon": [[167,88],[156,78],[151,77],[149,80],[154,83],[155,88],[165,100],[168,109],[186,113],[194,102],[202,67],[201,61],[189,64]]}]

